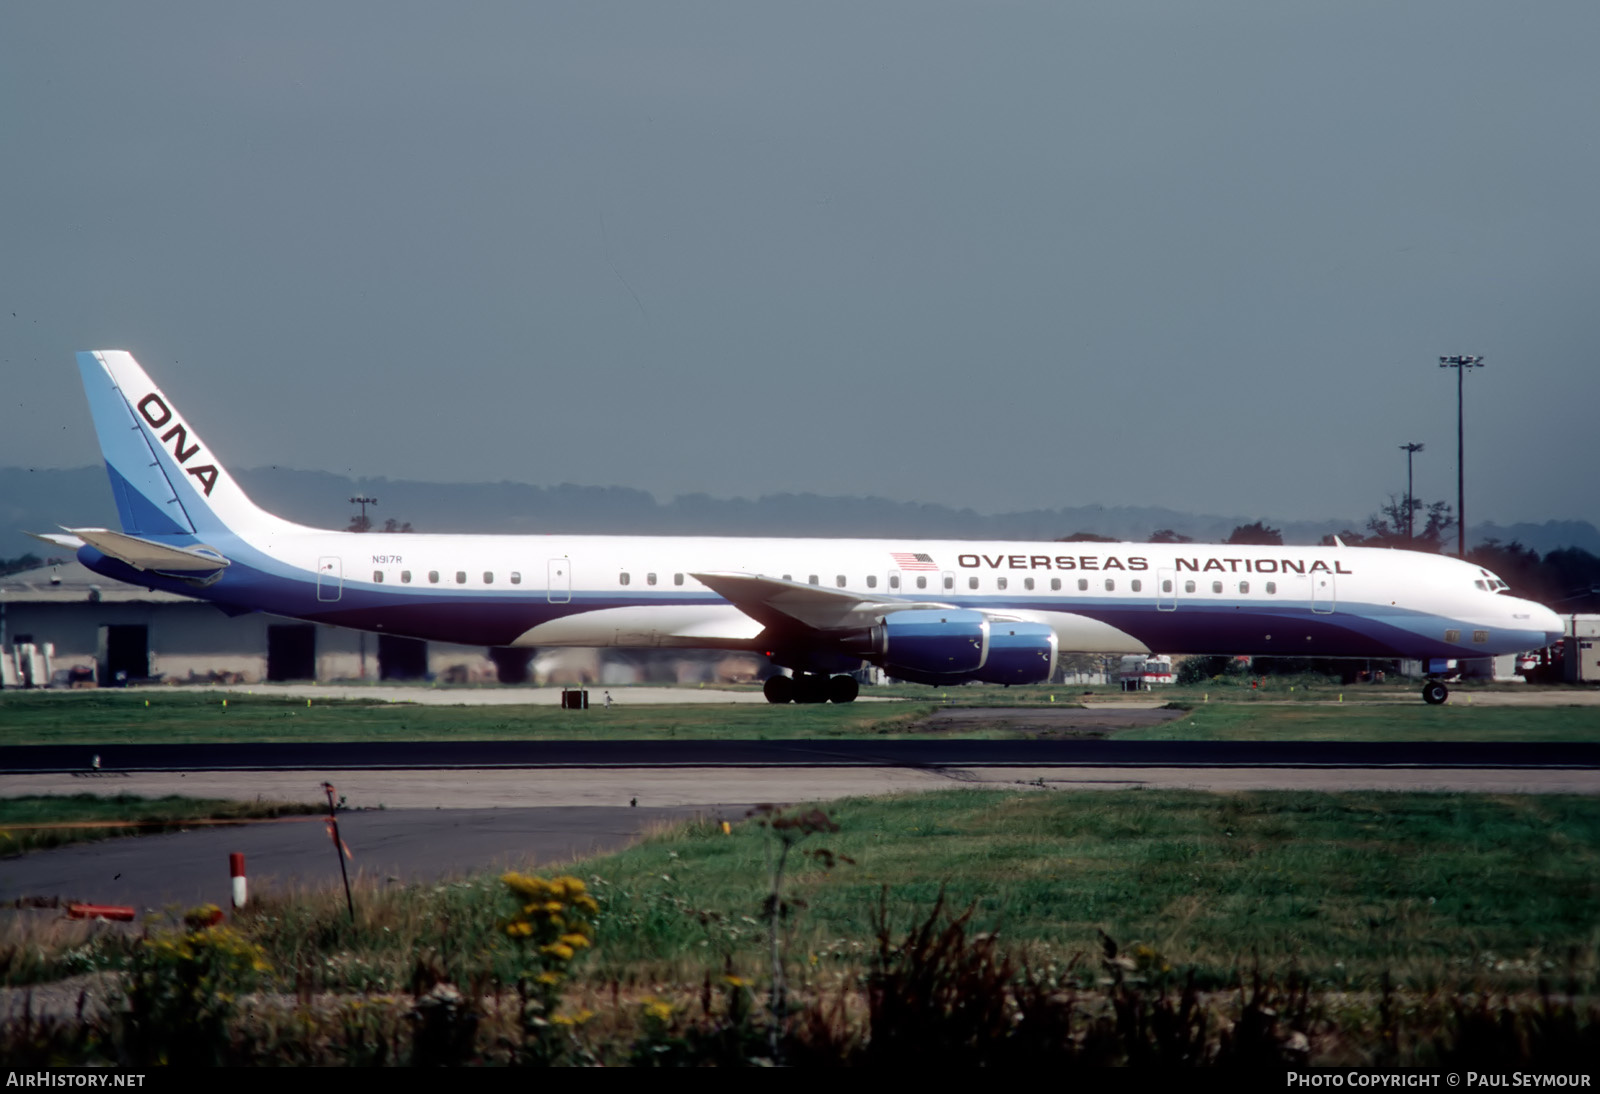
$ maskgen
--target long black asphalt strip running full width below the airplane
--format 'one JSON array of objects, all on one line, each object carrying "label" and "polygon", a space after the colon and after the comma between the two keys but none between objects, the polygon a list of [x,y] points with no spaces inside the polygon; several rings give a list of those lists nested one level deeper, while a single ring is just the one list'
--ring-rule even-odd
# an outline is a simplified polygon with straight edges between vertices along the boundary
[{"label": "long black asphalt strip running full width below the airplane", "polygon": [[395,741],[6,745],[0,774],[490,768],[1595,768],[1600,744],[1339,741]]}]

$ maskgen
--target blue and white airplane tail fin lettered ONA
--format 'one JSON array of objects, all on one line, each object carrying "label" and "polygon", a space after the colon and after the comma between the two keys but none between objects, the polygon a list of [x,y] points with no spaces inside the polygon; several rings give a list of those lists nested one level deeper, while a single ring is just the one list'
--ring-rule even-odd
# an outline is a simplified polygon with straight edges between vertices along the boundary
[{"label": "blue and white airplane tail fin lettered ONA", "polygon": [[203,536],[299,528],[245,496],[131,353],[82,352],[78,371],[122,531]]}]

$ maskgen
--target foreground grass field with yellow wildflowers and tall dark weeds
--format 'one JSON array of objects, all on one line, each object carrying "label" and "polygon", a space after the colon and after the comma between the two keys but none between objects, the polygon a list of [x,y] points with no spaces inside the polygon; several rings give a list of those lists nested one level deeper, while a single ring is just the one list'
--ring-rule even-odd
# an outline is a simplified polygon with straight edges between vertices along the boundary
[{"label": "foreground grass field with yellow wildflowers and tall dark weeds", "polygon": [[[952,790],[837,801],[827,817],[837,830],[794,843],[779,889],[778,953],[800,1025],[762,1006],[779,836],[749,819],[731,832],[675,825],[560,868],[598,902],[592,947],[568,950],[546,996],[555,1009],[536,1012],[565,1027],[518,1019],[530,996],[514,985],[530,984],[539,960],[507,939],[522,900],[494,876],[470,876],[358,884],[354,921],[331,889],[258,894],[232,928],[154,947],[115,929],[6,921],[6,984],[128,969],[146,988],[118,1012],[133,1017],[0,1024],[0,1048],[18,1065],[152,1052],[760,1062],[766,1032],[781,1030],[786,1052],[821,1062],[872,1062],[894,1044],[906,1062],[1099,1044],[1072,1059],[1434,1064],[1477,1052],[1496,1067],[1552,1067],[1592,1059],[1600,1035],[1594,798]],[[941,897],[938,928],[965,908],[970,923],[938,936],[954,945],[914,945]],[[907,958],[914,950],[931,956]],[[419,996],[434,998],[435,984],[462,987],[445,1000],[493,1003],[446,1003],[424,1020]],[[874,995],[874,984],[898,987]],[[235,1006],[243,992],[270,1004]],[[904,1001],[898,1025],[880,998]],[[1227,1036],[1246,1027],[1253,1041]]]}]

